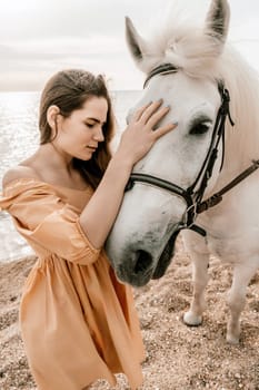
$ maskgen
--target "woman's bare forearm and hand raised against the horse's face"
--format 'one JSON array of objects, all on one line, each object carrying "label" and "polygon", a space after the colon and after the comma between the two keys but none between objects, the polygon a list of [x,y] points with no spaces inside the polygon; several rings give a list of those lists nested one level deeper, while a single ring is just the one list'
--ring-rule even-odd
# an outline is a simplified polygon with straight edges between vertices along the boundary
[{"label": "woman's bare forearm and hand raised against the horse's face", "polygon": [[136,113],[102,181],[81,213],[80,225],[97,248],[104,244],[114,223],[133,165],[158,138],[177,126],[167,124],[153,131],[153,127],[169,111],[168,107],[159,108],[160,105],[161,101],[151,103]]}]

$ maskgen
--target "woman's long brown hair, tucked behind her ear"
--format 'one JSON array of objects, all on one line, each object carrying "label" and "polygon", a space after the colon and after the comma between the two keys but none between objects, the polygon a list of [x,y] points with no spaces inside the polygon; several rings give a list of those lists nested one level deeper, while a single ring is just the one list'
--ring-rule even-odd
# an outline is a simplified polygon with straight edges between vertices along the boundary
[{"label": "woman's long brown hair, tucked behind her ear", "polygon": [[108,103],[107,121],[103,125],[104,142],[99,143],[90,160],[84,162],[74,157],[73,167],[96,188],[111,158],[110,142],[114,131],[114,115],[103,76],[94,76],[81,69],[62,70],[52,76],[41,94],[39,127],[40,144],[52,142],[56,135],[52,134],[47,120],[48,108],[52,105],[58,106],[60,114],[67,118],[92,96],[103,97]]}]

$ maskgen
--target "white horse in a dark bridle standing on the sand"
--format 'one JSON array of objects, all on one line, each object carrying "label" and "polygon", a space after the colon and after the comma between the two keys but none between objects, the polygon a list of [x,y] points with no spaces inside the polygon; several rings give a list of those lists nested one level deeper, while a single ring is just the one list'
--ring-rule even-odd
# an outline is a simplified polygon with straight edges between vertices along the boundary
[{"label": "white horse in a dark bridle standing on the sand", "polygon": [[[259,82],[226,42],[229,13],[227,0],[212,0],[202,28],[177,16],[150,41],[127,18],[130,51],[147,74],[130,113],[162,98],[171,106],[163,120],[178,121],[178,127],[135,166],[107,251],[118,277],[141,286],[165,274],[176,236],[185,228],[193,298],[183,321],[202,321],[213,254],[233,267],[227,341],[238,343],[246,287],[259,267]],[[221,202],[213,205],[221,193],[205,202],[248,167],[249,175],[226,191]]]}]

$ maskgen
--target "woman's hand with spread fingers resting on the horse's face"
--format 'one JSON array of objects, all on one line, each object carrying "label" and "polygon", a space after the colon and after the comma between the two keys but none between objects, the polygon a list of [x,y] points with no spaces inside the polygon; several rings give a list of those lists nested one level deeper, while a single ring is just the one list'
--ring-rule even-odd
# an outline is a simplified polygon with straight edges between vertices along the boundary
[{"label": "woman's hand with spread fingers resting on the horse's face", "polygon": [[116,154],[132,166],[150,150],[158,138],[177,127],[177,124],[169,123],[153,130],[170,110],[169,107],[160,107],[161,104],[162,100],[158,100],[138,109],[121,136]]}]

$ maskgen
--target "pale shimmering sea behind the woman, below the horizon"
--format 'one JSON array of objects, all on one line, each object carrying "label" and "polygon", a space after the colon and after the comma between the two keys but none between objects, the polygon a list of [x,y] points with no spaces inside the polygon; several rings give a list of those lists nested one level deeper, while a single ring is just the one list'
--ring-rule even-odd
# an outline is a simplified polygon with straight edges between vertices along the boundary
[{"label": "pale shimmering sea behind the woman, below the horizon", "polygon": [[[116,148],[126,128],[126,116],[141,91],[111,91],[117,118]],[[0,193],[3,174],[32,155],[39,146],[40,92],[0,92]],[[24,238],[16,231],[11,217],[0,212],[0,262],[16,261],[33,254]]]}]

